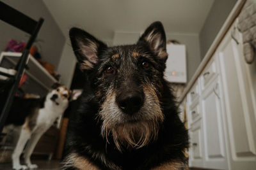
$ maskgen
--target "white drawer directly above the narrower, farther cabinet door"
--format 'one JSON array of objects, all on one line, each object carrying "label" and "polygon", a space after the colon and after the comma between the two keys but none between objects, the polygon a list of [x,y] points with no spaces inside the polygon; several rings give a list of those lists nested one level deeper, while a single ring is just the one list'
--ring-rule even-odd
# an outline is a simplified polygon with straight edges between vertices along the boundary
[{"label": "white drawer directly above the narrower, farther cabinet door", "polygon": [[203,73],[201,74],[201,82],[202,82],[202,89],[205,89],[205,87],[210,83],[212,78],[217,75],[216,71],[216,62],[214,58],[210,60],[210,62],[205,67]]}]

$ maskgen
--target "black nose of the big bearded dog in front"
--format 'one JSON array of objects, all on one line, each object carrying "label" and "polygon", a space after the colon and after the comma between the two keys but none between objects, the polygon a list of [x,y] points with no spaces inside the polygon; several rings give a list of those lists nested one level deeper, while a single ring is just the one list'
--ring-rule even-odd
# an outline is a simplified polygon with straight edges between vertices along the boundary
[{"label": "black nose of the big bearded dog in front", "polygon": [[143,95],[138,92],[121,94],[117,100],[119,108],[129,115],[138,112],[143,105]]}]

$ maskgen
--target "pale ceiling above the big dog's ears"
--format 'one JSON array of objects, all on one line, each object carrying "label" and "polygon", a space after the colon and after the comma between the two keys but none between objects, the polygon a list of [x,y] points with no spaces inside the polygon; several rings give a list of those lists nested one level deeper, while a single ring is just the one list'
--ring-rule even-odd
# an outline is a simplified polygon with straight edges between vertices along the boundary
[{"label": "pale ceiling above the big dog's ears", "polygon": [[81,27],[100,39],[143,32],[160,20],[168,33],[198,34],[214,0],[43,0],[65,36]]}]

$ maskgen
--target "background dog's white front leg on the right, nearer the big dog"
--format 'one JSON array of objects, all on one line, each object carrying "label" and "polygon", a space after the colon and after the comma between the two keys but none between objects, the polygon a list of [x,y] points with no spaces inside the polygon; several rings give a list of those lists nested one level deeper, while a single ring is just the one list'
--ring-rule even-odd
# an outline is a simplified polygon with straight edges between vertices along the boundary
[{"label": "background dog's white front leg on the right, nearer the big dog", "polygon": [[31,164],[30,156],[33,150],[35,149],[36,143],[38,142],[38,140],[41,138],[41,136],[44,134],[46,130],[47,129],[45,128],[44,129],[38,128],[35,131],[33,131],[33,134],[31,135],[31,139],[29,140],[28,145],[24,150],[25,163],[30,169],[35,169],[38,167],[36,164]]}]

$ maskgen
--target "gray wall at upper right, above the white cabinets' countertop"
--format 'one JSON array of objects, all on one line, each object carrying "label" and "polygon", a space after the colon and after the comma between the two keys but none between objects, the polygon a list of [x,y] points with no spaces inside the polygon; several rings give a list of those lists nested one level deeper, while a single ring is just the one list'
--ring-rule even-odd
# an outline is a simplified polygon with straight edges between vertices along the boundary
[{"label": "gray wall at upper right, above the white cabinets' countertop", "polygon": [[236,4],[236,1],[237,0],[215,0],[212,4],[209,15],[199,34],[202,59],[210,48],[214,38],[216,38],[230,11]]}]

